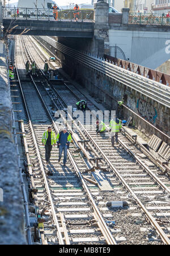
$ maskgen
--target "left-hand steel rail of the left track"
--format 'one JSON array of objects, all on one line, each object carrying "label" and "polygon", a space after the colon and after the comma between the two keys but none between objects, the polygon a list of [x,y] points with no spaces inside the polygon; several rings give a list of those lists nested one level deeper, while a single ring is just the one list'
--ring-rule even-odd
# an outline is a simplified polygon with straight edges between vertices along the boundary
[{"label": "left-hand steel rail of the left track", "polygon": [[[21,44],[21,43],[20,43],[20,47],[21,47],[21,49],[22,49],[22,44]],[[22,49],[22,53],[23,53],[23,49]],[[24,60],[24,56],[23,56],[23,60]],[[25,63],[25,60],[24,60],[24,63]],[[17,62],[15,63],[15,66],[16,66],[16,73],[17,73],[17,76],[18,76],[19,85],[20,85],[20,90],[21,90],[21,93],[22,93],[23,101],[24,101],[25,110],[26,110],[27,115],[28,115],[29,127],[30,127],[30,129],[31,129],[33,142],[34,142],[34,144],[35,144],[37,156],[38,156],[39,163],[40,163],[40,168],[41,168],[41,171],[42,171],[42,175],[43,175],[43,177],[44,177],[45,188],[46,188],[46,191],[47,191],[47,193],[48,193],[50,205],[51,205],[51,207],[52,207],[53,219],[54,219],[54,222],[55,222],[56,227],[57,227],[57,233],[58,233],[57,236],[58,236],[59,244],[64,245],[63,238],[62,238],[62,234],[61,234],[61,231],[60,231],[60,228],[59,228],[59,224],[58,224],[58,220],[57,220],[57,216],[56,216],[56,210],[55,210],[55,208],[54,208],[54,204],[53,204],[52,196],[51,196],[51,194],[50,194],[50,189],[49,189],[48,181],[47,181],[47,179],[46,179],[45,170],[44,170],[44,167],[43,167],[43,164],[42,164],[41,155],[40,155],[40,152],[39,152],[39,147],[38,147],[38,144],[37,144],[37,142],[36,142],[35,133],[34,133],[34,130],[33,130],[33,127],[32,127],[32,122],[31,122],[31,117],[30,117],[30,115],[29,115],[29,110],[28,110],[27,102],[25,101],[25,97],[24,97],[24,93],[23,93],[23,89],[22,89],[22,84],[21,84],[21,82],[20,82],[19,73],[18,73],[18,68],[17,68]],[[31,76],[31,75],[30,75],[30,76]],[[31,76],[31,79],[32,79],[32,81],[33,81],[32,76]]]}]

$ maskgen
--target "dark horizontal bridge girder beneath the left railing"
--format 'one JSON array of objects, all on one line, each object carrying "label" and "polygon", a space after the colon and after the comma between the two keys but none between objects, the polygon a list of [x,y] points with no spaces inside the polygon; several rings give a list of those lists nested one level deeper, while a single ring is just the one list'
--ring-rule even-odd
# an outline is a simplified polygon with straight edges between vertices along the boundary
[{"label": "dark horizontal bridge girder beneath the left railing", "polygon": [[[3,19],[3,27],[4,32],[9,31],[12,35],[21,34],[26,28],[29,30],[26,33],[27,35],[66,36],[72,38],[93,38],[94,36],[94,23],[92,22]],[[12,29],[13,27],[15,28]]]}]

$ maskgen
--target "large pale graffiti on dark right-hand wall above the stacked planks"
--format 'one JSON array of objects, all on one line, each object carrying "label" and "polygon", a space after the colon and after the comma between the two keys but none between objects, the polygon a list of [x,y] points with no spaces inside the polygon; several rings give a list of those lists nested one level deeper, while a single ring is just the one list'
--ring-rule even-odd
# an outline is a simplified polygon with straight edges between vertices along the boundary
[{"label": "large pale graffiti on dark right-hand wall above the stacked planks", "polygon": [[151,123],[156,122],[158,113],[154,106],[152,106],[150,103],[139,98],[137,101],[137,109],[139,114],[142,115],[142,117],[144,117],[147,121],[150,121]]}]

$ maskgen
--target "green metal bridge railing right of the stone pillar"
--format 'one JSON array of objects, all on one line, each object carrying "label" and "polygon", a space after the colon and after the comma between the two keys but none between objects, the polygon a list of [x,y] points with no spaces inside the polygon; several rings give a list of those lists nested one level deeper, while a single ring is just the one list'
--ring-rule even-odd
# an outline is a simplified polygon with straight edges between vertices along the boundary
[{"label": "green metal bridge railing right of the stone pillar", "polygon": [[129,23],[170,26],[170,16],[166,14],[129,13]]}]

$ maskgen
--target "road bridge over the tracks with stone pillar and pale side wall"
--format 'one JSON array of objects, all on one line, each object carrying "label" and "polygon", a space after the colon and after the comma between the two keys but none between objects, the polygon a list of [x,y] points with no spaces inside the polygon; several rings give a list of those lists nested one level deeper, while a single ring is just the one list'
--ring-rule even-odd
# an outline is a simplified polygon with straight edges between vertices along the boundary
[{"label": "road bridge over the tracks with stone pillar and pale side wall", "polygon": [[[151,14],[109,14],[104,1],[95,11],[80,11],[74,21],[73,10],[59,10],[54,21],[52,10],[3,8],[3,31],[18,35],[58,36],[59,42],[79,51],[114,56],[114,46],[121,49],[125,59],[155,69],[170,59],[170,19]],[[67,37],[70,38],[67,40]],[[108,48],[105,49],[105,48]]]}]

